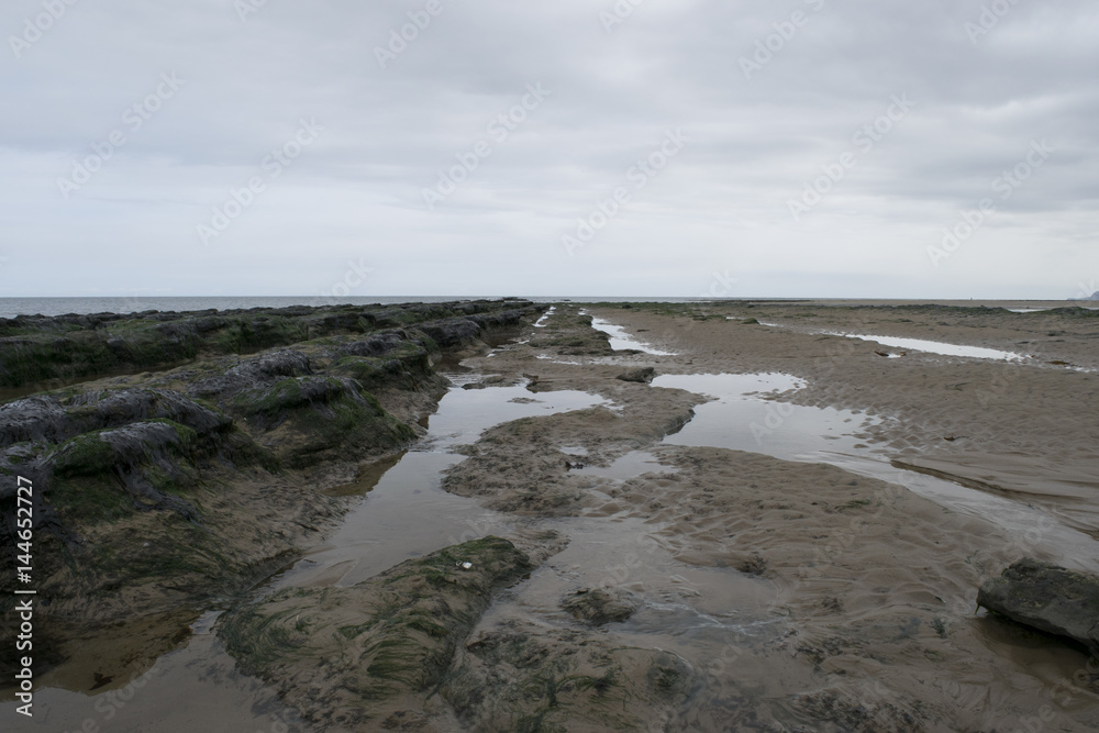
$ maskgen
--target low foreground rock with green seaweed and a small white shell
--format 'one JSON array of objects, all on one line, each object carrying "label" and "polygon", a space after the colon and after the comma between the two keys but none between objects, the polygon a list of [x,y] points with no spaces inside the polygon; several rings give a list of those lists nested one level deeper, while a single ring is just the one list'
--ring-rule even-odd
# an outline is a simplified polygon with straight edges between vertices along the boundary
[{"label": "low foreground rock with green seaweed and a small white shell", "polygon": [[348,588],[287,588],[219,633],[318,730],[355,729],[436,687],[493,591],[530,569],[510,542],[484,537]]}]

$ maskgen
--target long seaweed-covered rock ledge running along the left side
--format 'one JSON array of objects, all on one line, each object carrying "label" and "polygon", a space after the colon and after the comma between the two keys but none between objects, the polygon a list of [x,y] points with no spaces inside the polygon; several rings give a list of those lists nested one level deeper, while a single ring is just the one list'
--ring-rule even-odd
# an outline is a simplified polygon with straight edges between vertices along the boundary
[{"label": "long seaweed-covered rock ledge running along the left side", "polygon": [[[34,484],[35,581],[51,601],[35,640],[43,669],[66,624],[201,608],[284,565],[344,511],[325,485],[415,438],[448,386],[434,369],[442,348],[484,348],[542,310],[506,300],[0,319],[0,477]],[[159,370],[119,376],[144,368]],[[15,481],[0,481],[9,547],[14,504]],[[13,563],[4,553],[0,573]],[[0,612],[11,604],[0,599]]]}]

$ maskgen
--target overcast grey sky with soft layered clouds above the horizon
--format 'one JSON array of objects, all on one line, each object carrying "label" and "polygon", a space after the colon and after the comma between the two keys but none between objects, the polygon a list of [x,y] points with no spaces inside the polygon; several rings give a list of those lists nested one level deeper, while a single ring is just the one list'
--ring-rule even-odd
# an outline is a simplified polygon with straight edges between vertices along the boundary
[{"label": "overcast grey sky with soft layered clouds above the horizon", "polygon": [[4,0],[0,296],[1072,298],[1099,3]]}]

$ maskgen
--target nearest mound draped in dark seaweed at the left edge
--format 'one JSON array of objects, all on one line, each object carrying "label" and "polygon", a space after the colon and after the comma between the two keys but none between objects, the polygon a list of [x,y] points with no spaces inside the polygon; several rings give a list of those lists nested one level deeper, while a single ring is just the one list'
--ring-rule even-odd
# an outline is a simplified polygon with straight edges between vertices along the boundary
[{"label": "nearest mound draped in dark seaweed at the left edge", "polygon": [[269,462],[229,415],[170,390],[26,398],[0,406],[0,470],[36,477],[42,511],[74,527],[148,509],[192,520],[196,508],[178,489],[195,485],[200,468]]}]

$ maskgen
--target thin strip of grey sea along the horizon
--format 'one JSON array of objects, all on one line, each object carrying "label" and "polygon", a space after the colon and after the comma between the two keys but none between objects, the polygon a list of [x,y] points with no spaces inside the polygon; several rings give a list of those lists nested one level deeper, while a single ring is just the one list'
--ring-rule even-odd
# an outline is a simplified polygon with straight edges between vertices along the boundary
[{"label": "thin strip of grey sea along the horizon", "polygon": [[[485,296],[493,299],[498,296]],[[521,297],[521,296],[517,296]],[[214,308],[220,311],[245,308],[287,308],[289,306],[334,306],[351,303],[354,306],[370,306],[381,303],[441,303],[452,300],[480,300],[478,297],[460,296],[407,296],[407,297],[364,297],[364,298],[319,298],[317,296],[279,296],[270,298],[253,297],[203,297],[203,298],[0,298],[0,318],[16,315],[64,315],[66,313],[141,313],[143,311],[204,311]],[[560,302],[570,300],[577,303],[613,302],[665,302],[682,303],[702,300],[701,298],[528,298],[537,303]]]}]

